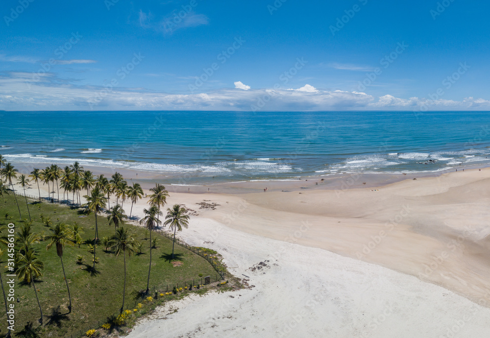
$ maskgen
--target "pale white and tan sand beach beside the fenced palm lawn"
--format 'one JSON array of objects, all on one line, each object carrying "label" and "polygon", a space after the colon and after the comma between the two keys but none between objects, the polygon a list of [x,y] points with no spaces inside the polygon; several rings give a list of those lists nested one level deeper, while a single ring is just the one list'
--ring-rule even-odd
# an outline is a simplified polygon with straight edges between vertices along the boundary
[{"label": "pale white and tan sand beach beside the fenced palm lawn", "polygon": [[171,193],[169,206],[198,214],[178,235],[253,287],[170,302],[128,337],[486,337],[490,169],[378,188],[344,180],[349,189],[313,179],[281,182],[288,192]]}]

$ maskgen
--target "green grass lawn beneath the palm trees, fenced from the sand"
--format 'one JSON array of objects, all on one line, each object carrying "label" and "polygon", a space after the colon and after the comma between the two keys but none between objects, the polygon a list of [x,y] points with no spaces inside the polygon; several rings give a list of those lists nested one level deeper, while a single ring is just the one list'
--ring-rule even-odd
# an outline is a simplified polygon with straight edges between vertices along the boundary
[{"label": "green grass lawn beneath the palm trees, fenced from the sand", "polygon": [[[25,199],[17,197],[21,208],[23,218],[27,218],[27,209]],[[50,217],[53,224],[64,222],[72,225],[77,222],[85,230],[82,234],[84,240],[93,240],[95,235],[95,216],[94,214],[86,217],[81,216],[80,210],[72,210],[67,206],[50,204],[47,202],[37,203],[28,200],[31,218],[33,220],[33,232],[50,233],[49,228],[41,223],[41,214]],[[32,204],[33,203],[33,204]],[[5,219],[5,213],[8,213],[12,219]],[[12,195],[5,195],[0,199],[0,222],[6,225],[13,222],[16,230],[19,231],[24,222],[19,221],[19,213]],[[144,244],[142,254],[133,255],[129,259],[126,256],[127,263],[127,280],[126,280],[126,306],[132,309],[135,302],[141,302],[138,293],[146,290],[148,265],[149,265],[149,235],[144,228],[125,224],[132,232],[135,238]],[[186,230],[184,230],[186,231]],[[114,235],[114,227],[108,226],[105,216],[98,216],[99,238],[111,237]],[[172,241],[155,232],[152,237],[159,239],[157,248],[152,250],[152,266],[150,276],[150,292],[153,287],[156,290],[166,291],[167,285],[169,290],[179,283],[183,285],[184,281],[189,283],[196,279],[200,282],[201,276],[211,275],[214,281],[216,271],[204,258],[196,255],[192,251],[175,244],[175,254],[183,266],[172,266],[168,257],[172,254]],[[66,284],[63,279],[60,259],[56,255],[56,248],[46,250],[48,243],[41,241],[35,244],[34,248],[39,254],[40,260],[44,263],[43,277],[36,281],[36,288],[44,314],[44,326],[39,328],[40,337],[73,337],[79,336],[79,331],[98,327],[98,321],[103,324],[107,317],[113,313],[118,314],[123,301],[123,256],[115,257],[112,252],[105,252],[101,243],[97,246],[98,263],[96,264],[97,273],[91,273],[88,266],[92,266],[93,254],[89,252],[87,245],[82,244],[80,248],[77,245],[67,246],[64,250],[63,262],[65,265],[67,279],[70,285],[72,295],[72,313],[68,313],[68,293]],[[77,255],[85,257],[85,264],[77,264]],[[2,278],[5,285],[7,274],[6,270],[7,257],[3,255],[0,266]],[[15,297],[19,302],[15,302],[15,329],[13,337],[25,337],[22,331],[28,322],[33,328],[37,328],[39,323],[39,308],[36,302],[34,290],[29,285],[20,283],[16,278]],[[6,286],[5,286],[6,287]],[[0,303],[3,298],[0,297]],[[8,302],[7,302],[8,303]],[[0,337],[6,333],[3,304],[0,304]],[[125,306],[125,308],[126,308]]]}]

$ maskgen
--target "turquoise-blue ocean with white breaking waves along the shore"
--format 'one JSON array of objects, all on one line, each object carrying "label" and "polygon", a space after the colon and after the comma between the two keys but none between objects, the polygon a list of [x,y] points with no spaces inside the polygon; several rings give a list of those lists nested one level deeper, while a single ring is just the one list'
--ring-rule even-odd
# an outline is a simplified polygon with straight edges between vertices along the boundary
[{"label": "turquoise-blue ocean with white breaking waves along the shore", "polygon": [[490,163],[490,113],[0,112],[0,154],[201,183],[431,174]]}]

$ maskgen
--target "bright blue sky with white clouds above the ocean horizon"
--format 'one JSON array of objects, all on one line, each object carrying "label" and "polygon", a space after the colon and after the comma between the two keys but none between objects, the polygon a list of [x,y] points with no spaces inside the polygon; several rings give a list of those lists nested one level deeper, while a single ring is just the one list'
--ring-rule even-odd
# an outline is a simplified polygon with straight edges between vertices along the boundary
[{"label": "bright blue sky with white clouds above the ocean horizon", "polygon": [[5,0],[0,109],[490,110],[489,10]]}]

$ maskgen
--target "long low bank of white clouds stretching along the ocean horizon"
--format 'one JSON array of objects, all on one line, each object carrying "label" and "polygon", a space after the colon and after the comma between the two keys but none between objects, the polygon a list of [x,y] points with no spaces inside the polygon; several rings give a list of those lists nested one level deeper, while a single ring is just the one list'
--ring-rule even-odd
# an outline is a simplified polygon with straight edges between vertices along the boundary
[{"label": "long low bank of white clouds stretching along the ocean horizon", "polygon": [[[0,110],[490,110],[490,100],[463,101],[373,97],[361,92],[331,91],[305,85],[296,90],[223,88],[189,94],[142,88],[78,85],[52,73],[33,81],[31,72],[0,73]],[[237,81],[235,86],[248,87]]]}]

